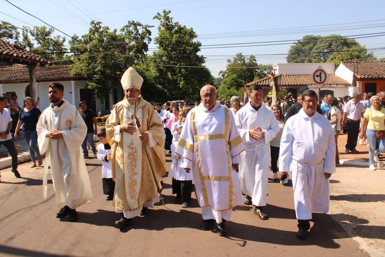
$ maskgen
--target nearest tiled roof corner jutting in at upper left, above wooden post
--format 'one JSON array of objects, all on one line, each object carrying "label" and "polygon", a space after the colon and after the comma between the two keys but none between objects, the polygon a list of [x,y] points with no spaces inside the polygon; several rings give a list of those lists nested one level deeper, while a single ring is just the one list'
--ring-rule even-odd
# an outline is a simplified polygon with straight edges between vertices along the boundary
[{"label": "nearest tiled roof corner jutting in at upper left, above wooden post", "polygon": [[25,65],[48,64],[48,61],[41,56],[28,52],[2,39],[0,39],[0,60]]}]

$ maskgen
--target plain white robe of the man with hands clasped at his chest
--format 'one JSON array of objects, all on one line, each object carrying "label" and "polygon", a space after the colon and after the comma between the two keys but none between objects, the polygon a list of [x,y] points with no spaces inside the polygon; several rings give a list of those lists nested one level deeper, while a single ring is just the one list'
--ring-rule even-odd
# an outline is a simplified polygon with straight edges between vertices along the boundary
[{"label": "plain white robe of the man with hands clasped at his chest", "polygon": [[[271,110],[261,105],[258,111],[248,102],[235,116],[236,128],[242,138],[245,151],[240,154],[239,180],[242,192],[252,197],[252,204],[265,206],[267,180],[270,165],[270,141],[279,132],[279,126]],[[259,126],[264,138],[250,137],[250,129]]]}]

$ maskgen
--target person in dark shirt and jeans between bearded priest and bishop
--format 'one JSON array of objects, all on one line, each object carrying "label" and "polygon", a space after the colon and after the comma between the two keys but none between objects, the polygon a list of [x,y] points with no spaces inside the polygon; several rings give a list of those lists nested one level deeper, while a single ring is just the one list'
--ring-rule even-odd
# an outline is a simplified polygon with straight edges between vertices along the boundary
[{"label": "person in dark shirt and jeans between bearded priest and bishop", "polygon": [[81,144],[84,157],[88,157],[87,141],[91,145],[93,156],[96,156],[96,147],[93,142],[93,134],[97,133],[96,115],[91,109],[87,109],[85,101],[80,101],[79,112],[85,122],[85,125],[87,126],[87,135]]}]

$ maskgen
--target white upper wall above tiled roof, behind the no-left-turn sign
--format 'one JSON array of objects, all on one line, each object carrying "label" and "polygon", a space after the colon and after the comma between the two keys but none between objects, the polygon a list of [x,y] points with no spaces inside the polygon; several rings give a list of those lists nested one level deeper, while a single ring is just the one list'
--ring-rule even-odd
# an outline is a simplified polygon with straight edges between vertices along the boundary
[{"label": "white upper wall above tiled roof, behind the no-left-turn sign", "polygon": [[318,66],[328,74],[334,74],[334,63],[279,63],[272,66],[275,74],[307,75],[312,74]]}]

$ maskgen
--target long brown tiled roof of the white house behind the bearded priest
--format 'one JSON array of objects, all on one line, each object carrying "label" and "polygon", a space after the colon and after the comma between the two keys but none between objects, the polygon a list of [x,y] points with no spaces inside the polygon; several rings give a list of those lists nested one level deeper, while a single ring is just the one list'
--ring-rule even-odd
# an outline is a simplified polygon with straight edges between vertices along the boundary
[{"label": "long brown tiled roof of the white house behind the bearded priest", "polygon": [[[85,80],[81,76],[73,76],[68,65],[36,67],[36,82]],[[28,68],[22,65],[0,68],[0,83],[21,83],[28,80]]]}]

